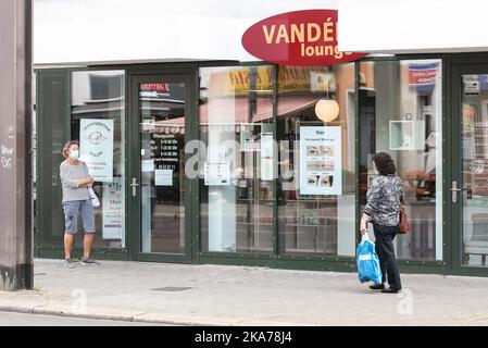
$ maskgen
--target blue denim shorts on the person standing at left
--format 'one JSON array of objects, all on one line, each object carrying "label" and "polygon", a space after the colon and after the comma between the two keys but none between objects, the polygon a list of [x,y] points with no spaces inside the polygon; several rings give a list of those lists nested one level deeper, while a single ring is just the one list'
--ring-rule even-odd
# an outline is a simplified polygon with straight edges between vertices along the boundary
[{"label": "blue denim shorts on the person standing at left", "polygon": [[64,225],[68,234],[78,232],[78,213],[82,213],[85,233],[95,233],[95,209],[91,200],[72,200],[63,202]]}]

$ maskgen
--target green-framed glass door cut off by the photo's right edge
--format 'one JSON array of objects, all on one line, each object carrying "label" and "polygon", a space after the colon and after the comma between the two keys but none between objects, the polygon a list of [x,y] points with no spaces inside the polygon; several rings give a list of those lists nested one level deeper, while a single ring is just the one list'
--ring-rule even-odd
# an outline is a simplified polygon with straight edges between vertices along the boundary
[{"label": "green-framed glass door cut off by the photo's right edge", "polygon": [[488,273],[488,65],[452,70],[453,269]]}]

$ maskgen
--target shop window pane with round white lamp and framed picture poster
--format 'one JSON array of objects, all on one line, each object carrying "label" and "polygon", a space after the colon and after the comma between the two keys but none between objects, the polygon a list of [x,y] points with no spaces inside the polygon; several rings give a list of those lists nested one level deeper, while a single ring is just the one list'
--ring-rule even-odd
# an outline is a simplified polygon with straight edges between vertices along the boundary
[{"label": "shop window pane with round white lamp and framed picture poster", "polygon": [[277,83],[279,253],[353,257],[354,64],[279,66]]}]

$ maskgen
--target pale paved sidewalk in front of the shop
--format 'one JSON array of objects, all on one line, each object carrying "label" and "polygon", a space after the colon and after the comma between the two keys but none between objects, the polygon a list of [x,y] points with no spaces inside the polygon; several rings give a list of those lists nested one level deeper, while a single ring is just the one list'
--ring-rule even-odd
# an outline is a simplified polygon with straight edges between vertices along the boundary
[{"label": "pale paved sidewalk in front of the shop", "polygon": [[[0,311],[190,325],[488,325],[488,277],[402,274],[380,294],[356,273],[35,260],[35,290]],[[0,313],[1,315],[1,313]]]}]

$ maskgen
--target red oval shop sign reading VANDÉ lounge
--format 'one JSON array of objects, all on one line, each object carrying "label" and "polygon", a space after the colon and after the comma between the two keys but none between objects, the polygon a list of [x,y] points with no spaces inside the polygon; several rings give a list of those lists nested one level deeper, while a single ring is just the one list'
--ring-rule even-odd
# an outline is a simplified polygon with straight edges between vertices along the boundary
[{"label": "red oval shop sign reading VAND\u00c9 lounge", "polygon": [[252,55],[281,65],[333,65],[366,55],[338,50],[336,10],[293,11],[267,17],[246,30],[242,46]]}]

